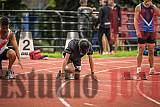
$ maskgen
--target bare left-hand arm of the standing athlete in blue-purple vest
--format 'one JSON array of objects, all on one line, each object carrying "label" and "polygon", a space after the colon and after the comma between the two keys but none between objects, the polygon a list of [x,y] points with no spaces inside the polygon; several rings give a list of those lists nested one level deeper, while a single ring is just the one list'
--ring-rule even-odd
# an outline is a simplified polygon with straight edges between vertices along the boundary
[{"label": "bare left-hand arm of the standing athlete in blue-purple vest", "polygon": [[140,5],[137,5],[135,8],[135,14],[134,14],[134,27],[135,27],[137,36],[141,37],[141,33],[139,30],[139,17],[140,17]]}]

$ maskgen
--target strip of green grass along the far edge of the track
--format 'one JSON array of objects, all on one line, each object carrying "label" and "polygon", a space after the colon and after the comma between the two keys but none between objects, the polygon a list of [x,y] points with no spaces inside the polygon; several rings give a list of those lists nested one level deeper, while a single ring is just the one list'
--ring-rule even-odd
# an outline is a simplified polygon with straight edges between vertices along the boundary
[{"label": "strip of green grass along the far edge of the track", "polygon": [[[49,58],[62,58],[61,52],[54,53],[43,53],[43,55],[47,55]],[[134,51],[117,51],[117,53],[112,55],[100,55],[98,52],[94,52],[93,58],[108,58],[108,57],[134,57],[137,55],[137,50]]]}]

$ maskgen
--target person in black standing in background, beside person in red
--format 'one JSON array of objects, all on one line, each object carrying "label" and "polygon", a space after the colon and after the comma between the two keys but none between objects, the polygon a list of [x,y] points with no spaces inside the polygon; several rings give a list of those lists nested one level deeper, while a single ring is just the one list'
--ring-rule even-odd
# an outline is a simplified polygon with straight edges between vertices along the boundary
[{"label": "person in black standing in background, beside person in red", "polygon": [[112,18],[112,9],[108,5],[108,0],[102,1],[102,7],[99,10],[99,46],[100,46],[100,54],[106,54],[106,40],[102,39],[103,34],[105,34],[108,43],[109,43],[109,52],[112,52],[112,39],[110,36],[110,27],[111,27],[111,18]]}]

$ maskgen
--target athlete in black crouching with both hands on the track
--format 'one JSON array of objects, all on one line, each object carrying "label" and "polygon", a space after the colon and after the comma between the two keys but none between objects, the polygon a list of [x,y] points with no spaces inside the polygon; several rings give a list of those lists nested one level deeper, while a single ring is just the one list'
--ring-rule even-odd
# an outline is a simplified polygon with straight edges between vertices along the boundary
[{"label": "athlete in black crouching with both hands on the track", "polygon": [[62,63],[62,69],[58,73],[57,77],[65,76],[65,79],[69,79],[69,75],[72,73],[75,80],[80,78],[81,72],[81,58],[84,55],[88,55],[91,77],[96,79],[94,75],[94,62],[92,58],[93,49],[91,43],[87,39],[73,39],[68,43],[68,47],[64,49],[64,60]]}]

